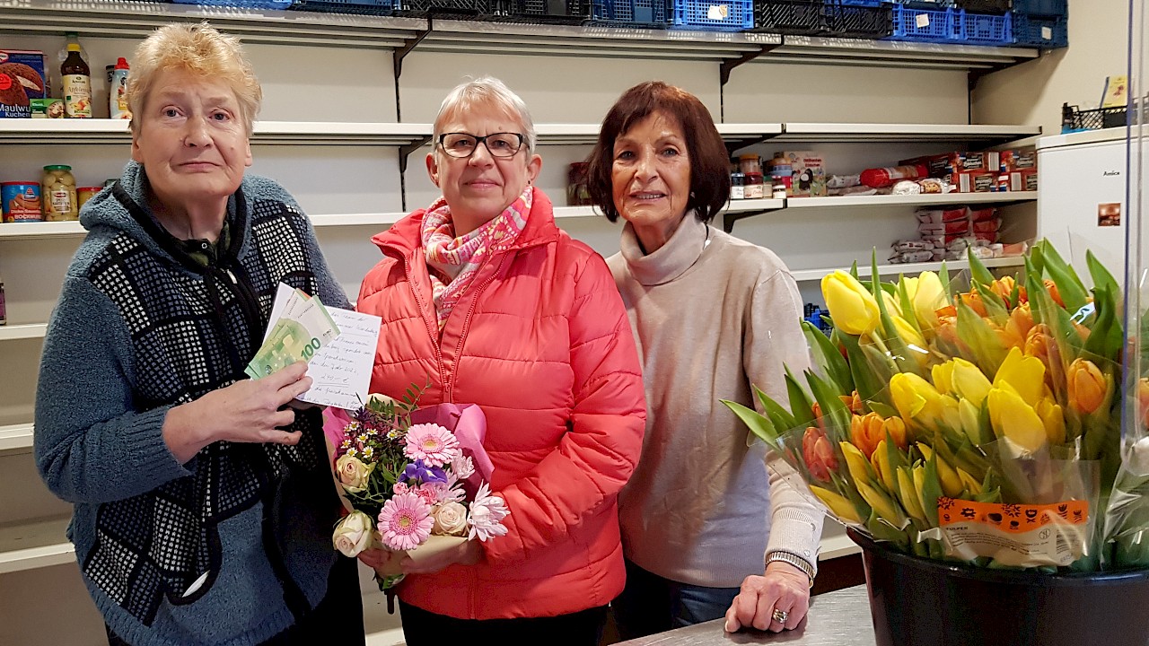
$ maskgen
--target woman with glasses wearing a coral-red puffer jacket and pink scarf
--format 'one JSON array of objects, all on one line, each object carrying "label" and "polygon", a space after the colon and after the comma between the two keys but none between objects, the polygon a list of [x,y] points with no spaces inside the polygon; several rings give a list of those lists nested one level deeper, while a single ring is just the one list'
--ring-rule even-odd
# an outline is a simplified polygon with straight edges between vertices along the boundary
[{"label": "woman with glasses wearing a coral-red puffer jacket and pink scarf", "polygon": [[403,633],[591,646],[623,590],[616,500],[642,447],[630,323],[603,260],[531,185],[542,162],[522,99],[495,79],[458,86],[433,144],[442,198],[375,237],[384,260],[360,290],[383,318],[371,391],[430,383],[421,405],[479,405],[510,516],[507,536],[404,559]]}]

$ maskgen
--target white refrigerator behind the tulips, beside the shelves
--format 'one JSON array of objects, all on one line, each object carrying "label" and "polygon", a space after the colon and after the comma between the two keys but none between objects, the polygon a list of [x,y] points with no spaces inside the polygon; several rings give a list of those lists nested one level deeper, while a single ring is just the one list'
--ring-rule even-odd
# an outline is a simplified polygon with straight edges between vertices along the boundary
[{"label": "white refrigerator behind the tulips, beside the shelves", "polygon": [[1038,238],[1047,238],[1090,284],[1086,249],[1124,282],[1126,129],[1038,140]]}]

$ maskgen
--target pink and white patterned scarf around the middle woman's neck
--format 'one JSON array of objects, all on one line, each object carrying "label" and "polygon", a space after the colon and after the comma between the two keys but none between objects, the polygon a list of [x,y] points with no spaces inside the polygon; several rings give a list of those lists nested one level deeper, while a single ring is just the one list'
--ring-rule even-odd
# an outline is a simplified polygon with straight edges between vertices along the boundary
[{"label": "pink and white patterned scarf around the middle woman's neck", "polygon": [[423,248],[431,269],[431,293],[440,331],[479,267],[491,255],[491,247],[495,243],[512,243],[526,226],[533,194],[533,187],[527,185],[506,210],[458,238],[446,200],[439,198],[427,208],[423,215]]}]

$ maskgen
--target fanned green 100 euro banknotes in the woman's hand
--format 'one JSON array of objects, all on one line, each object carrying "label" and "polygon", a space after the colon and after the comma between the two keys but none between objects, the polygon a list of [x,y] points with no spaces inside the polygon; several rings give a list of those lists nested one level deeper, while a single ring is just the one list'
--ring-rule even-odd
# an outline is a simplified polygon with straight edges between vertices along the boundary
[{"label": "fanned green 100 euro banknotes in the woman's hand", "polygon": [[259,379],[296,361],[310,361],[316,351],[339,336],[339,328],[319,299],[300,294],[288,298],[255,359],[247,364],[248,377]]}]

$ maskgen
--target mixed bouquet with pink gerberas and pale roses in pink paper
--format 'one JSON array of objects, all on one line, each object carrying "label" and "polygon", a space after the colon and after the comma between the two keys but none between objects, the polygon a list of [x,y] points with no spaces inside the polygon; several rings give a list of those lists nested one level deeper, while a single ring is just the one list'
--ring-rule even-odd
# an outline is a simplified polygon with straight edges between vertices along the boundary
[{"label": "mixed bouquet with pink gerberas and pale roses in pink paper", "polygon": [[[381,547],[417,559],[507,533],[509,512],[487,484],[494,468],[483,448],[483,410],[453,403],[421,409],[417,398],[415,390],[401,401],[372,394],[357,410],[324,413],[327,454],[348,510],[332,541],[347,556]],[[379,585],[402,578],[398,570],[383,572]]]}]

